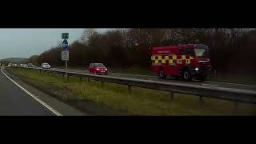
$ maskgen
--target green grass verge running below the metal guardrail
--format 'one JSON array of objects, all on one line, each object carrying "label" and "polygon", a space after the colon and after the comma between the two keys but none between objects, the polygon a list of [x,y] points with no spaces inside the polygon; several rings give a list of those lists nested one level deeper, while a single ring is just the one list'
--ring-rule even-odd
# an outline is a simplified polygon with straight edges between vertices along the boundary
[{"label": "green grass verge running below the metal guardrail", "polygon": [[[25,77],[40,86],[58,86],[70,90],[75,98],[86,99],[115,110],[126,111],[131,115],[234,115],[234,102],[214,98],[204,98],[204,106],[200,108],[199,98],[188,94],[174,94],[171,101],[170,92],[148,90],[132,87],[128,93],[127,86],[104,83],[70,77],[65,84],[62,75],[34,72],[20,68],[11,69],[19,77]],[[238,114],[256,115],[256,106],[239,103]]]}]

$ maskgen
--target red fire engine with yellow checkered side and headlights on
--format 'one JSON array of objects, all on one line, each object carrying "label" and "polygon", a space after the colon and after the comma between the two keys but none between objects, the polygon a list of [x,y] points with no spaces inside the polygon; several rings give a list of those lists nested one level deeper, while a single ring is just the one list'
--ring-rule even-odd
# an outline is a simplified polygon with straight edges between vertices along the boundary
[{"label": "red fire engine with yellow checkered side and headlights on", "polygon": [[186,81],[192,78],[203,81],[211,70],[209,50],[202,44],[154,47],[151,67],[159,78],[170,75]]}]

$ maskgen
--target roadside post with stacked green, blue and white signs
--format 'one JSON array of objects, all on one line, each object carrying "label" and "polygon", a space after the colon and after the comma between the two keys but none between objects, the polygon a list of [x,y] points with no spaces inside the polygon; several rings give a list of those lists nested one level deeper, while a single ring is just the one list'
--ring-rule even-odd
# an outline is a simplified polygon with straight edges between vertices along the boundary
[{"label": "roadside post with stacked green, blue and white signs", "polygon": [[67,42],[66,39],[69,38],[69,33],[62,33],[62,47],[63,47],[63,51],[62,51],[62,61],[65,61],[66,63],[66,74],[65,74],[65,78],[66,78],[66,82],[67,82],[67,61],[69,60],[69,43]]}]

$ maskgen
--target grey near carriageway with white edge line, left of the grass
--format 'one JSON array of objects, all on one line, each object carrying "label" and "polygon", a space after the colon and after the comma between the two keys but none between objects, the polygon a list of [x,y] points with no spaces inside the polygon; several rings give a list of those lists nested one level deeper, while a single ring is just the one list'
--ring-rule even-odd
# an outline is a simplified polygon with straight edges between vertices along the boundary
[{"label": "grey near carriageway with white edge line, left of the grass", "polygon": [[[57,99],[35,90],[22,82],[14,81],[6,70],[0,71],[1,116],[62,116],[84,115]],[[30,91],[29,91],[30,90]],[[50,105],[49,105],[50,104]]]}]

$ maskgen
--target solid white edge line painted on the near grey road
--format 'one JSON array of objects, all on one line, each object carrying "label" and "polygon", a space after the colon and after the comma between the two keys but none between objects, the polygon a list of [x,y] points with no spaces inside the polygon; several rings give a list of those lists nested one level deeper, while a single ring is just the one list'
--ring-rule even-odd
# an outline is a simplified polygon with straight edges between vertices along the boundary
[{"label": "solid white edge line painted on the near grey road", "polygon": [[[2,71],[2,68],[1,68]],[[4,74],[6,76],[6,78],[9,78],[3,71],[2,74]],[[26,90],[24,87],[18,85],[17,82],[15,82],[13,79],[9,78],[11,82],[14,82],[14,84],[16,86],[18,86],[19,88],[21,88],[23,91],[26,92],[26,94],[29,94],[32,98],[34,98],[35,100],[37,100],[38,102],[40,102],[43,106],[46,106],[46,108],[48,110],[50,110],[51,112],[53,112],[54,114],[58,115],[58,116],[62,116],[62,114],[60,114],[57,110],[54,110],[52,107],[50,107],[49,105],[46,104],[46,102],[42,102],[41,99],[37,98],[36,96],[34,96],[34,94],[31,94],[28,90]]]}]

